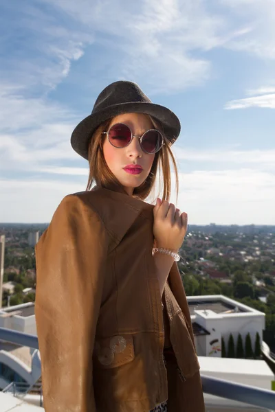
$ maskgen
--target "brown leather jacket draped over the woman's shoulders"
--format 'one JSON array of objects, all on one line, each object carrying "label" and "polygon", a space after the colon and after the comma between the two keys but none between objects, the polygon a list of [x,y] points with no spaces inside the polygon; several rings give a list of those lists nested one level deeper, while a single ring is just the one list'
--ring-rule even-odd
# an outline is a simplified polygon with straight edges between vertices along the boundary
[{"label": "brown leather jacket draped over the woman's shoulders", "polygon": [[35,249],[46,412],[144,412],[167,398],[169,412],[204,411],[177,264],[161,298],[152,247],[153,205],[99,187],[58,205]]}]

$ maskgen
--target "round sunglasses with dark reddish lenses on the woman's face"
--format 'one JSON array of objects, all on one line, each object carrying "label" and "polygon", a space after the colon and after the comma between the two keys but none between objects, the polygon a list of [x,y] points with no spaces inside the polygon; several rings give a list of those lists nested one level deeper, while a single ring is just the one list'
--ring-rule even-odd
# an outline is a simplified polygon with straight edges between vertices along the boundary
[{"label": "round sunglasses with dark reddish lenses on the woman's face", "polygon": [[149,129],[142,136],[137,136],[133,135],[131,128],[124,123],[113,124],[107,132],[102,134],[107,135],[110,144],[118,149],[126,148],[133,140],[133,137],[137,137],[142,150],[150,155],[158,152],[165,145],[164,137],[159,130]]}]

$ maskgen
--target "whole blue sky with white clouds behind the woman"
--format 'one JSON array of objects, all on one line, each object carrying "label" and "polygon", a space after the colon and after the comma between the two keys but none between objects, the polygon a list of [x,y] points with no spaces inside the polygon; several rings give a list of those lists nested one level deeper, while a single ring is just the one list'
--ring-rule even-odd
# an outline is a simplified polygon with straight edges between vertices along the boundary
[{"label": "whole blue sky with white clouds behind the woman", "polygon": [[0,23],[0,222],[85,190],[72,130],[131,80],[181,121],[188,222],[275,225],[274,0],[13,0]]}]

